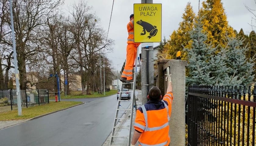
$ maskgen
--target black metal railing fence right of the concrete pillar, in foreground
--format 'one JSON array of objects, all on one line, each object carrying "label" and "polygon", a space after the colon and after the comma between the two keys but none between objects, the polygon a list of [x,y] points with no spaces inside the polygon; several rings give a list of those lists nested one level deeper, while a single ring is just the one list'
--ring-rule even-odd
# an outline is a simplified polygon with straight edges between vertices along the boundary
[{"label": "black metal railing fence right of the concrete pillar, in foreground", "polygon": [[189,86],[189,146],[255,146],[256,85]]}]

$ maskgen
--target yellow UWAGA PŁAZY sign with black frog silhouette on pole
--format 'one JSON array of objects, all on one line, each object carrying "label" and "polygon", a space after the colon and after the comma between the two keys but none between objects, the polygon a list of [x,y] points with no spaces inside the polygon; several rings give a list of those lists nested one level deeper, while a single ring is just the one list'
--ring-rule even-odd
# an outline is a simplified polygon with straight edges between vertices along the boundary
[{"label": "yellow UWAGA P\u0141AZY sign with black frog silhouette on pole", "polygon": [[161,42],[162,4],[134,4],[134,42]]}]

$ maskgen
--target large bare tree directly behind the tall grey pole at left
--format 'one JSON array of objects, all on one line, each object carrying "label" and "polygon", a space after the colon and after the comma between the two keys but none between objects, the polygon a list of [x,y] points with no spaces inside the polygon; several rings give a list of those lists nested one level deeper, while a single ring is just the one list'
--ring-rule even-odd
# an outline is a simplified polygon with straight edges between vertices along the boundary
[{"label": "large bare tree directly behind the tall grey pole at left", "polygon": [[[39,31],[47,23],[46,18],[51,17],[63,1],[13,0],[12,4],[20,89],[24,90],[27,87],[26,65],[30,63],[31,56],[40,52]],[[9,17],[5,17],[5,21],[10,27]],[[8,39],[2,42],[9,44]]]}]

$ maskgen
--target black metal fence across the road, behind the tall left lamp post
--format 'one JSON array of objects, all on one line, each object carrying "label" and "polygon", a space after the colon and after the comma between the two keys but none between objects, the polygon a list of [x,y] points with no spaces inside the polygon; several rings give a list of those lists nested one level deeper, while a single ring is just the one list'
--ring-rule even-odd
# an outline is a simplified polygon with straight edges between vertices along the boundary
[{"label": "black metal fence across the road, behind the tall left lamp post", "polygon": [[[17,105],[16,89],[0,90],[0,99],[5,97],[12,110]],[[20,90],[20,98],[22,107],[41,105],[49,103],[49,92],[48,89]]]}]

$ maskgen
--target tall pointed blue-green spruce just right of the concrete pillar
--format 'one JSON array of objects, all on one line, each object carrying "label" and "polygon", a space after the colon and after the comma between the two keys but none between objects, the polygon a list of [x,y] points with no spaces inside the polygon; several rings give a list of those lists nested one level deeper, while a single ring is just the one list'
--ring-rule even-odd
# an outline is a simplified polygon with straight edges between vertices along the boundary
[{"label": "tall pointed blue-green spruce just right of the concrete pillar", "polygon": [[188,70],[189,75],[186,78],[187,84],[198,85],[213,85],[211,74],[211,64],[209,58],[212,58],[212,54],[215,54],[215,48],[211,45],[207,45],[207,34],[203,31],[203,24],[201,23],[201,17],[196,19],[194,23],[194,30],[190,33],[192,40],[192,48],[185,48],[184,51],[188,52]]}]

